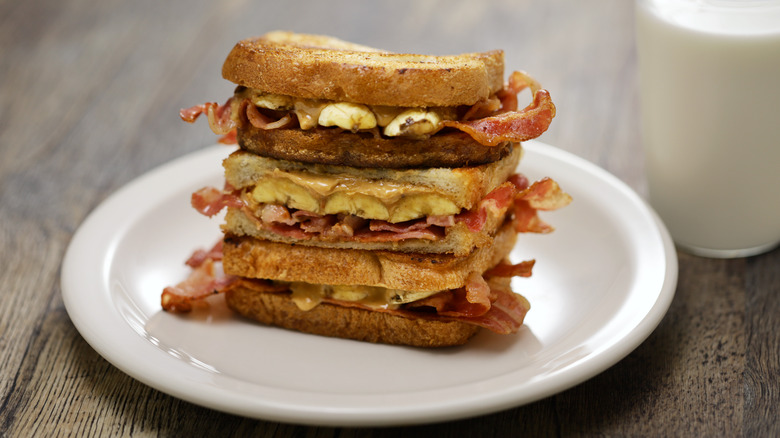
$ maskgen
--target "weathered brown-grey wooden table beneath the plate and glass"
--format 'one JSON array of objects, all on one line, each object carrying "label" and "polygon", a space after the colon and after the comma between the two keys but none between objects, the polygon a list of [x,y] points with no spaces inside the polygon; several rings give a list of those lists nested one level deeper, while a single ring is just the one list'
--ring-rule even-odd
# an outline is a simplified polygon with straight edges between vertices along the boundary
[{"label": "weathered brown-grey wooden table beneath the plate and glass", "polygon": [[[506,50],[558,107],[542,137],[645,194],[625,0],[0,2],[0,436],[777,436],[780,250],[679,254],[666,317],[633,353],[544,400],[444,424],[310,428],[228,415],[123,374],[71,323],[60,265],[86,215],[214,142],[178,109],[221,99],[235,41],[272,29],[390,50]],[[776,202],[776,200],[775,200]]]}]

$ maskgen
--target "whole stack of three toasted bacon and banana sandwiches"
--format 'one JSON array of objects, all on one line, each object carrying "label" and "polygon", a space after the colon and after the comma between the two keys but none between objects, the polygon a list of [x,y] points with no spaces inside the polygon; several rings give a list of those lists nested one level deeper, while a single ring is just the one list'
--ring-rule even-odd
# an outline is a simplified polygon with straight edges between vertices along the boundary
[{"label": "whole stack of three toasted bacon and banana sandwiches", "polygon": [[529,75],[505,81],[502,51],[397,54],[277,31],[237,43],[222,75],[233,96],[180,116],[238,144],[224,186],[191,199],[224,212],[223,238],[190,257],[163,309],[223,293],[263,324],[418,347],[519,330],[530,305],[510,280],[534,261],[509,253],[518,233],[552,231],[537,212],[571,197],[517,173],[555,106]]}]

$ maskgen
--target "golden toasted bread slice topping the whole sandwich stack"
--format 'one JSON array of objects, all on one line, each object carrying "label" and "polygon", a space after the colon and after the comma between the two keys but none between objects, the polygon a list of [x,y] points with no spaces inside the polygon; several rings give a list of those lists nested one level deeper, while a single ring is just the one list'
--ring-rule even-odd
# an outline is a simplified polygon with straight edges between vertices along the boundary
[{"label": "golden toasted bread slice topping the whole sandwich stack", "polygon": [[266,93],[366,105],[473,105],[500,90],[504,53],[396,54],[338,39],[273,32],[238,42],[222,76]]}]

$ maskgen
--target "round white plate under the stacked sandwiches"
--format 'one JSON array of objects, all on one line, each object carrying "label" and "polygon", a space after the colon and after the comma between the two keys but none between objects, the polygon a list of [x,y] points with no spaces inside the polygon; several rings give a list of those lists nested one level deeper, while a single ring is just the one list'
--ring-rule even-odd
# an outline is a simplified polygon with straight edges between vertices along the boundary
[{"label": "round white plate under the stacked sandwiches", "polygon": [[221,186],[215,146],[166,164],[107,199],[82,224],[62,267],[70,318],[130,376],[213,409],[333,426],[452,420],[529,403],[610,367],[658,325],[674,295],[677,257],[664,226],[604,170],[528,142],[520,170],[552,176],[573,197],[543,213],[548,235],[521,235],[512,257],[535,258],[515,279],[531,302],[513,336],[483,330],[463,347],[424,350],[330,339],[233,317],[219,302],[187,317],[160,310],[164,286],[219,219],[189,206]]}]

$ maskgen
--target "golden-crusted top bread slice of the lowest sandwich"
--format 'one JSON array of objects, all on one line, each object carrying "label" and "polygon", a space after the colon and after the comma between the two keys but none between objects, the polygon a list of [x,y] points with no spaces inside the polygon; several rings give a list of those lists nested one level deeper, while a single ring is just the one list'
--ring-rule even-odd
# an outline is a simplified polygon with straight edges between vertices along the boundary
[{"label": "golden-crusted top bread slice of the lowest sandwich", "polygon": [[225,273],[240,277],[441,291],[463,287],[469,274],[498,264],[512,250],[516,238],[512,224],[507,223],[493,245],[457,257],[319,248],[226,235],[222,264]]}]

